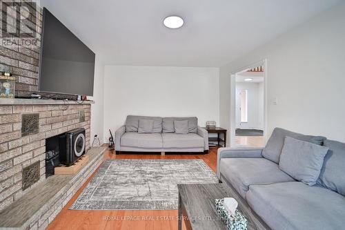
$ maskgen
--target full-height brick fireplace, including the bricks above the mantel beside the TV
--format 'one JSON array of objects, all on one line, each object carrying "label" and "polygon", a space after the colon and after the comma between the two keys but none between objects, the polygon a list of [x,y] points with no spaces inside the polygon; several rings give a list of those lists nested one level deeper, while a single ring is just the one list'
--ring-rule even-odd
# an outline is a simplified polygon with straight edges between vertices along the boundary
[{"label": "full-height brick fireplace, including the bricks above the mantel beside the TV", "polygon": [[[32,8],[34,5],[30,2],[35,1],[16,1],[15,4]],[[2,7],[12,6],[12,1],[1,1],[1,4]],[[33,10],[25,23],[34,31],[32,39],[37,42],[31,46],[0,44],[0,72],[9,72],[15,77],[16,97],[29,97],[38,90],[42,10],[39,6]],[[4,21],[6,17],[0,17],[1,25],[15,27],[17,15],[6,16],[8,19]],[[77,99],[72,95],[45,93],[44,96]],[[86,147],[89,148],[90,107],[90,102],[0,99],[0,211],[46,180],[46,138],[74,128],[85,128]]]}]

